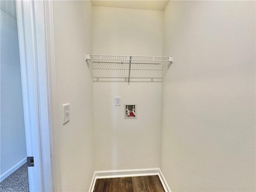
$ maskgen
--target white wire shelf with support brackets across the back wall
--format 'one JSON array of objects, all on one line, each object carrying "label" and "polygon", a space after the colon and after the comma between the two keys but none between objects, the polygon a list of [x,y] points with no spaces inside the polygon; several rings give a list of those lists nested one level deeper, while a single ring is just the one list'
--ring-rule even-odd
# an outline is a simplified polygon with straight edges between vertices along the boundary
[{"label": "white wire shelf with support brackets across the back wall", "polygon": [[93,81],[161,82],[173,57],[85,54]]}]

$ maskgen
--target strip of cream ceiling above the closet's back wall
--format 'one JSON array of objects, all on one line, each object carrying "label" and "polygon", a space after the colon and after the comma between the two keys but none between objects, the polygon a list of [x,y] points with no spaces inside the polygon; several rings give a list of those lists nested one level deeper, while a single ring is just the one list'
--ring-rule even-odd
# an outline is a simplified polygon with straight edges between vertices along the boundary
[{"label": "strip of cream ceiling above the closet's back wall", "polygon": [[92,6],[164,11],[169,0],[91,0]]}]

